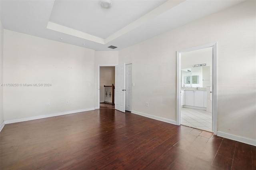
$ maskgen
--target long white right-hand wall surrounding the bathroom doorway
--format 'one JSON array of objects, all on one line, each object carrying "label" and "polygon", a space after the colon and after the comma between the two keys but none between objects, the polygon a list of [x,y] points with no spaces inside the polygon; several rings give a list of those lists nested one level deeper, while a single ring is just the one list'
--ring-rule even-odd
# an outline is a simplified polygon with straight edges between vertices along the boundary
[{"label": "long white right-hand wall surrounding the bathroom doorway", "polygon": [[119,51],[119,63],[132,63],[132,112],[176,121],[176,51],[218,42],[218,131],[256,140],[255,3]]}]

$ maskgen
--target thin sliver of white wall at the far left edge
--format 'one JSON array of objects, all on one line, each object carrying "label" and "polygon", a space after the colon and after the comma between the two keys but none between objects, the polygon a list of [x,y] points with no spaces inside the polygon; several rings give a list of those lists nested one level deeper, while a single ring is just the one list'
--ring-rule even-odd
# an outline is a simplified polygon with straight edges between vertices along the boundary
[{"label": "thin sliver of white wall at the far left edge", "polygon": [[[0,85],[4,81],[3,59],[4,59],[4,28],[2,26],[2,22],[0,21]],[[3,92],[4,92],[4,87],[0,86],[0,125],[4,121]]]}]

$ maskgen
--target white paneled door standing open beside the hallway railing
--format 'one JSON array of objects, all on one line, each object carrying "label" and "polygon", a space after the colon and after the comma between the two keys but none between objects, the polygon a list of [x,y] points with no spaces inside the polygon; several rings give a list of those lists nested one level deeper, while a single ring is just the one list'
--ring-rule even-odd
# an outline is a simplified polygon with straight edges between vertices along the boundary
[{"label": "white paneled door standing open beside the hallway railing", "polygon": [[125,113],[125,63],[115,67],[115,109]]}]

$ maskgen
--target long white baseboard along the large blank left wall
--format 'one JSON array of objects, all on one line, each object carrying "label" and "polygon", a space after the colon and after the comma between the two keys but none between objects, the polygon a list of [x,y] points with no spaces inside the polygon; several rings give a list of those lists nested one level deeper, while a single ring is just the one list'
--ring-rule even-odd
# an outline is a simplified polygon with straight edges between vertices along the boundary
[{"label": "long white baseboard along the large blank left wall", "polygon": [[61,115],[68,115],[68,114],[73,114],[73,113],[79,113],[79,112],[85,112],[85,111],[93,111],[96,108],[88,108],[88,109],[80,109],[80,110],[74,110],[74,111],[67,111],[67,112],[61,112],[61,113],[53,113],[53,114],[48,114],[48,115],[40,115],[40,116],[34,116],[34,117],[26,117],[26,118],[21,118],[21,119],[12,119],[8,121],[4,121],[4,124],[10,124],[10,123],[17,123],[17,122],[24,122],[24,121],[32,121],[36,119],[43,119],[43,118],[48,118],[48,117],[55,117],[55,116],[61,116]]}]

